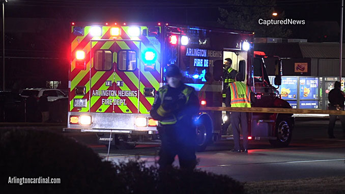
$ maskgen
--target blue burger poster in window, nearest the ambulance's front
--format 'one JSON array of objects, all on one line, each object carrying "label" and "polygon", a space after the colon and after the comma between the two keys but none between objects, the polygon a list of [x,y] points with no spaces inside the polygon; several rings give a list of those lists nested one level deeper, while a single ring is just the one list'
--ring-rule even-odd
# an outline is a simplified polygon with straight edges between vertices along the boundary
[{"label": "blue burger poster in window, nearest the ambulance's front", "polygon": [[297,100],[297,77],[282,77],[279,92],[282,99]]}]

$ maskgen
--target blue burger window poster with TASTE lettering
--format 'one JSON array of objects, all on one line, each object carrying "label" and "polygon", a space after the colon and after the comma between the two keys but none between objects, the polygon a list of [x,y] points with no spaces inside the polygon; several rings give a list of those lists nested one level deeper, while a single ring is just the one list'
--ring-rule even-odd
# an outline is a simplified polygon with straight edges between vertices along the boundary
[{"label": "blue burger window poster with TASTE lettering", "polygon": [[319,78],[300,77],[300,99],[317,100],[319,99]]}]

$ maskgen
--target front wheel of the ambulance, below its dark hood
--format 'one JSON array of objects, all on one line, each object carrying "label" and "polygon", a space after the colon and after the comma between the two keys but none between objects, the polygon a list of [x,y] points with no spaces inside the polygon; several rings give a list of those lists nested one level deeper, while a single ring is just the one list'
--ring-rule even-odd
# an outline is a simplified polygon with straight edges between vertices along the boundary
[{"label": "front wheel of the ambulance, below its dark hood", "polygon": [[287,147],[290,144],[292,137],[292,124],[289,118],[277,120],[276,125],[276,140],[269,140],[274,147]]}]

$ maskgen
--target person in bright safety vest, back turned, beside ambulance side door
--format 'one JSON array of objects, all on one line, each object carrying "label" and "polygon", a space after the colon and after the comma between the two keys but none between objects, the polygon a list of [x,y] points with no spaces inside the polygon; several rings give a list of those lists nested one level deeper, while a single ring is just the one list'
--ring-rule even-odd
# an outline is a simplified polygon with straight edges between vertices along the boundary
[{"label": "person in bright safety vest, back turned, beside ambulance side door", "polygon": [[[226,90],[226,106],[231,107],[251,107],[251,102],[255,101],[253,93],[250,88],[243,84],[241,80],[242,74],[237,73],[235,76],[235,82],[229,85],[229,89]],[[244,112],[232,112],[230,116],[231,125],[233,126],[234,134],[234,149],[232,152],[241,152],[240,149],[240,124],[243,133],[243,152],[248,152],[248,119],[247,113]]]}]

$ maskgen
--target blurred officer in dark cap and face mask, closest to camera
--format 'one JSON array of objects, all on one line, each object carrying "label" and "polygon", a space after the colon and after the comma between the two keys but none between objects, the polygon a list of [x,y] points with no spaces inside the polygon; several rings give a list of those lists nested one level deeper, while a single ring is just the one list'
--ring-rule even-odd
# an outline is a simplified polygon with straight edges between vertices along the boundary
[{"label": "blurred officer in dark cap and face mask, closest to camera", "polygon": [[182,82],[180,69],[170,65],[166,70],[167,85],[158,89],[150,110],[153,119],[158,120],[161,144],[159,169],[171,168],[176,155],[182,169],[193,170],[196,165],[196,133],[192,116],[199,110],[195,90]]}]

